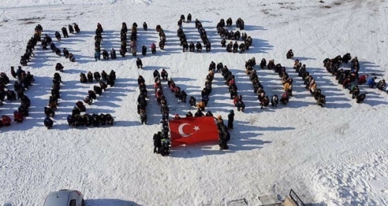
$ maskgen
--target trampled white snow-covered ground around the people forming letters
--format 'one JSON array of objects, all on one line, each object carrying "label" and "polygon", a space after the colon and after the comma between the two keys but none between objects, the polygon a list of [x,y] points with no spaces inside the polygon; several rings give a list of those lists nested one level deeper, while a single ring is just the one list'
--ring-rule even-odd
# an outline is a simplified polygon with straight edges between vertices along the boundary
[{"label": "trampled white snow-covered ground around the people forming letters", "polygon": [[[179,16],[199,19],[212,43],[211,53],[182,53],[176,35]],[[253,46],[243,54],[227,53],[215,25],[220,19],[245,21]],[[305,203],[315,205],[388,205],[387,93],[360,86],[367,93],[363,104],[351,99],[325,71],[322,61],[351,53],[360,60],[360,73],[377,73],[387,79],[386,52],[388,6],[378,0],[3,0],[0,2],[0,70],[10,75],[19,65],[28,39],[41,24],[53,37],[73,22],[81,32],[56,41],[76,56],[71,63],[37,46],[28,67],[34,85],[26,92],[32,106],[21,124],[0,128],[0,204],[43,205],[48,192],[78,189],[87,205],[202,205],[246,198],[258,205],[258,196],[294,189]],[[166,50],[143,59],[136,68],[132,55],[94,61],[94,32],[104,28],[101,48],[120,47],[121,23],[139,24],[138,47],[158,43],[157,24],[166,32]],[[147,32],[141,29],[148,23]],[[194,23],[184,24],[188,41],[200,41]],[[233,30],[236,28],[233,27]],[[304,88],[292,70],[294,55],[326,95],[324,108]],[[258,106],[252,84],[245,75],[245,61],[252,57],[275,59],[294,78],[294,96],[287,106]],[[227,119],[235,109],[235,129],[229,150],[216,142],[175,147],[169,157],[152,153],[152,135],[159,129],[161,113],[152,95],[152,72],[165,68],[188,96],[200,97],[211,61],[227,65],[236,76],[238,93],[247,109],[237,112],[229,100],[222,76],[215,75],[207,110]],[[43,126],[55,64],[64,65],[62,100],[55,126]],[[345,68],[349,66],[344,65]],[[117,81],[107,88],[88,113],[111,113],[112,127],[67,125],[67,115],[94,84],[80,84],[79,73],[116,71]],[[267,95],[281,95],[279,76],[258,70]],[[143,75],[149,89],[148,125],[136,113],[137,77]],[[12,83],[15,79],[12,79]],[[166,88],[166,82],[162,82]],[[12,85],[9,86],[12,88]],[[179,104],[165,91],[170,115],[195,109]],[[5,102],[0,115],[12,115],[20,102]]]}]

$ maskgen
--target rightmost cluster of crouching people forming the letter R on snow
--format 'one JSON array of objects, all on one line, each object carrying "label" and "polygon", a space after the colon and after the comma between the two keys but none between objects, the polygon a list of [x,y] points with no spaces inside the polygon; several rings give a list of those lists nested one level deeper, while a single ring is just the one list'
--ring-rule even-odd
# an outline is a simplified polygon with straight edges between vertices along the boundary
[{"label": "rightmost cluster of crouching people forming the letter R on snow", "polygon": [[[348,64],[350,61],[350,70],[344,70],[340,68],[343,63]],[[335,76],[338,84],[342,85],[342,88],[346,88],[349,90],[349,93],[352,94],[352,99],[355,99],[357,103],[364,102],[367,97],[366,93],[360,93],[360,88],[358,85],[365,84],[367,82],[367,77],[369,75],[361,75],[359,76],[358,71],[360,70],[360,63],[358,62],[358,58],[354,57],[351,59],[351,54],[346,53],[341,57],[341,55],[337,55],[333,59],[326,58],[324,59],[324,67],[328,73]],[[371,82],[374,81],[374,77]],[[369,84],[369,83],[368,83]]]}]

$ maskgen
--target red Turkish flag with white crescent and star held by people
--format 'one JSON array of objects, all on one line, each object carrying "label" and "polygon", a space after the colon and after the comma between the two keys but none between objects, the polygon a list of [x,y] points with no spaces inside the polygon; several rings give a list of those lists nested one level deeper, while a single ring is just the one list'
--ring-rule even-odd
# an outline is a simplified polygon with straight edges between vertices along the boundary
[{"label": "red Turkish flag with white crescent and star held by people", "polygon": [[171,146],[218,140],[218,129],[213,117],[170,120]]}]

